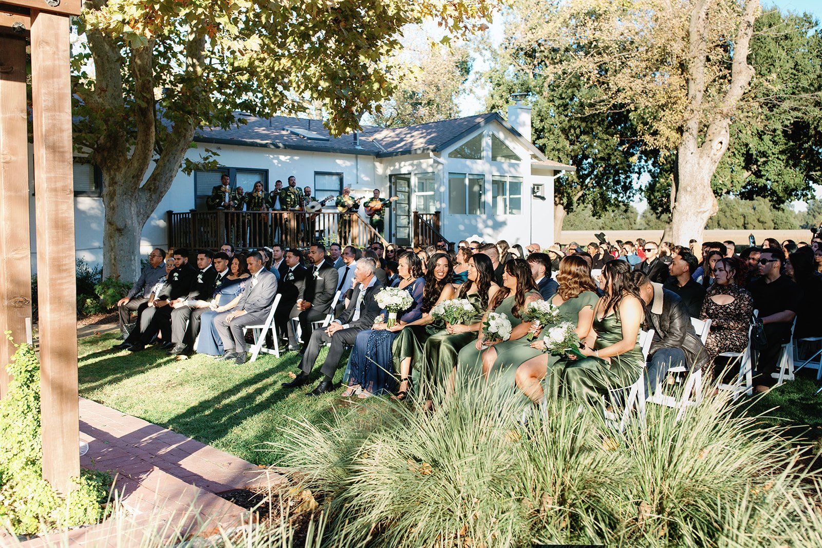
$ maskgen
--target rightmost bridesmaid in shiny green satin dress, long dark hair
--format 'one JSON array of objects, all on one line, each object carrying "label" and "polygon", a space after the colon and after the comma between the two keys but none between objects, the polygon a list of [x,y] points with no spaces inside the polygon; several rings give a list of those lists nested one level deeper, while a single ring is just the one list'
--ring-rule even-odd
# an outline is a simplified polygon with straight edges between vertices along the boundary
[{"label": "rightmost bridesmaid in shiny green satin dress, long dark hair", "polygon": [[585,357],[559,362],[561,394],[591,405],[601,404],[609,389],[633,384],[645,361],[639,343],[644,306],[630,279],[630,265],[612,260],[602,275],[605,295],[593,308],[593,329],[580,348]]}]

